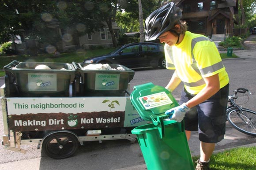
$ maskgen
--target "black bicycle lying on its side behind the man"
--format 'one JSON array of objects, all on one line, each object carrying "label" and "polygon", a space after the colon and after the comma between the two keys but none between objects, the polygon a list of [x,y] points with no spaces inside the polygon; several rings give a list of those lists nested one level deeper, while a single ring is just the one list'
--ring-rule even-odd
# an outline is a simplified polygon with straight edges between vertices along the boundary
[{"label": "black bicycle lying on its side behind the man", "polygon": [[252,93],[245,88],[238,88],[233,92],[234,94],[228,97],[229,106],[226,110],[228,122],[230,122],[230,124],[238,131],[247,135],[256,136],[256,112],[241,107],[236,103],[238,97],[237,93]]}]

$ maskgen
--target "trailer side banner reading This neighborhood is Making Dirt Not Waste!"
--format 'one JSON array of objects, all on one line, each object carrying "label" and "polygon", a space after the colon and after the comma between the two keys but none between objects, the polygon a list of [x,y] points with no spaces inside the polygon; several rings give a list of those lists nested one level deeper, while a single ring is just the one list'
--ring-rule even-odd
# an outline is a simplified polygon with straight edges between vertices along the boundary
[{"label": "trailer side banner reading This neighborhood is Making Dirt Not Waste!", "polygon": [[7,106],[13,131],[136,126],[139,118],[126,97],[8,98]]}]

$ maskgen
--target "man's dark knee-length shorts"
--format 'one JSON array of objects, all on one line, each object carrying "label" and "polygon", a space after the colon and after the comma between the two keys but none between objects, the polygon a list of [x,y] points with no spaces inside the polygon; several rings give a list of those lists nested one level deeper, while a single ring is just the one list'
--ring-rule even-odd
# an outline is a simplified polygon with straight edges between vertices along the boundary
[{"label": "man's dark knee-length shorts", "polygon": [[[228,95],[229,84],[208,100],[192,107],[184,117],[185,130],[198,131],[199,140],[206,143],[217,143],[224,139]],[[179,103],[186,103],[194,96],[184,89]]]}]

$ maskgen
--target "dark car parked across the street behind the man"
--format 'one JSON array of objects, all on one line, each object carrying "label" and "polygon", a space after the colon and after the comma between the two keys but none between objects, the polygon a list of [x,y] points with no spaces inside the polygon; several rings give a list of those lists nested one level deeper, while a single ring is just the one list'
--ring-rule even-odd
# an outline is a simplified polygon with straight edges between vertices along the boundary
[{"label": "dark car parked across the street behind the man", "polygon": [[151,42],[125,44],[109,54],[86,59],[83,63],[121,64],[128,68],[166,68],[163,45]]}]

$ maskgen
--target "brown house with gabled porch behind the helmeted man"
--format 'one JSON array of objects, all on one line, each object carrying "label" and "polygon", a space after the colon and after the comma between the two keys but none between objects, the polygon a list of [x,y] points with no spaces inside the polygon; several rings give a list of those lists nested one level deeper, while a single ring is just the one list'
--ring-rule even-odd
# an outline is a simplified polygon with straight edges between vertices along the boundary
[{"label": "brown house with gabled porch behind the helmeted man", "polygon": [[212,34],[233,35],[233,18],[238,0],[173,0],[182,9],[188,30],[211,37]]}]

